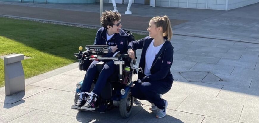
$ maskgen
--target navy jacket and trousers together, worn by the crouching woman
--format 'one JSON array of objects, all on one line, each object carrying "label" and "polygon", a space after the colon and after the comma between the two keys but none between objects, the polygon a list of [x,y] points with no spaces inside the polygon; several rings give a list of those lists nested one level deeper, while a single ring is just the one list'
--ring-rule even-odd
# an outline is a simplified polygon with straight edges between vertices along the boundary
[{"label": "navy jacket and trousers together, worn by the crouching woman", "polygon": [[[174,47],[167,41],[163,44],[162,48],[156,55],[153,64],[151,66],[150,76],[146,76],[144,71],[138,72],[138,79],[141,79],[143,83],[135,82],[135,86],[132,88],[132,95],[138,99],[148,100],[154,103],[158,108],[164,109],[164,101],[159,97],[159,94],[165,94],[171,89],[173,83],[173,75],[170,68],[173,63],[173,49]],[[132,41],[129,43],[128,48],[133,50],[142,49],[139,68],[145,69],[145,55],[146,50],[151,44],[153,38],[145,37],[138,41]]]}]

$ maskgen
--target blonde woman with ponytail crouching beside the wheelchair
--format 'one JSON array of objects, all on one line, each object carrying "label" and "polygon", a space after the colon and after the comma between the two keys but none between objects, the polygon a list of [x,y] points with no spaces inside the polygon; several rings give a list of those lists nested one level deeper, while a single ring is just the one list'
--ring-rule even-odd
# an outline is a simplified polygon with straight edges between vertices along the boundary
[{"label": "blonde woman with ponytail crouching beside the wheelchair", "polygon": [[[153,17],[149,22],[149,36],[128,45],[128,54],[132,59],[134,51],[142,49],[139,67],[144,73],[138,72],[138,81],[134,82],[132,95],[141,100],[148,100],[154,110],[157,107],[157,118],[166,116],[168,102],[160,97],[171,89],[173,76],[170,68],[173,63],[173,49],[170,43],[172,29],[167,16]],[[156,109],[155,107],[155,109]]]}]

